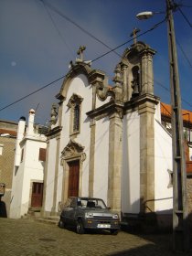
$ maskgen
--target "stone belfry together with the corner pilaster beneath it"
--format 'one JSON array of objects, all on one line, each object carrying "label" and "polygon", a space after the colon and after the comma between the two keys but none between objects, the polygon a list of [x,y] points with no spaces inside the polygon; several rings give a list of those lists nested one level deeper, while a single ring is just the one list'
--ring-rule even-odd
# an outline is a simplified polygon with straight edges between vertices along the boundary
[{"label": "stone belfry together with the corner pilaster beneath it", "polygon": [[[127,120],[133,112],[139,119],[139,208],[140,214],[144,216],[155,212],[155,109],[159,98],[154,95],[154,55],[153,48],[144,42],[137,42],[134,37],[133,45],[125,49],[120,63],[124,112]],[[127,131],[129,133],[129,127]]]}]

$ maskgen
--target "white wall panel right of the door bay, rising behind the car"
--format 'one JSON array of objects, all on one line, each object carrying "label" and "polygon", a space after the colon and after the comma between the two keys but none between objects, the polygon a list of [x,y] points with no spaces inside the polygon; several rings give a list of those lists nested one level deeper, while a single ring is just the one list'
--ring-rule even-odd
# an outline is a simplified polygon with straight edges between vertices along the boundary
[{"label": "white wall panel right of the door bay, rising behind the car", "polygon": [[109,118],[96,122],[93,197],[101,197],[107,204],[109,165]]}]

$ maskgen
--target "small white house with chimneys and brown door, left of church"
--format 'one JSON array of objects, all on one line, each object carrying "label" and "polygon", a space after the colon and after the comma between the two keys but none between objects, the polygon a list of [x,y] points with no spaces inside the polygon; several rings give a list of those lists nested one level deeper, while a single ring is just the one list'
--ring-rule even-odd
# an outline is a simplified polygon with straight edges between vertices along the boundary
[{"label": "small white house with chimneys and brown door, left of church", "polygon": [[[16,134],[16,152],[11,193],[10,217],[21,218],[28,210],[38,211],[42,205],[43,177],[46,160],[46,127],[34,123],[30,110],[28,123],[21,117]],[[12,169],[13,171],[13,169]]]}]

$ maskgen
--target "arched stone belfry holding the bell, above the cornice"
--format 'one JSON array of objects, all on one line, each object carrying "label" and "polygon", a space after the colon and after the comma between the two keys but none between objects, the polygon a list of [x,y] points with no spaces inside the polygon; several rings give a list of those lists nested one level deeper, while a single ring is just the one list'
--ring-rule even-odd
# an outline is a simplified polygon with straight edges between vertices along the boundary
[{"label": "arched stone belfry holding the bell, above the cornice", "polygon": [[153,56],[155,50],[144,42],[136,42],[123,53],[123,101],[145,93],[154,94]]}]

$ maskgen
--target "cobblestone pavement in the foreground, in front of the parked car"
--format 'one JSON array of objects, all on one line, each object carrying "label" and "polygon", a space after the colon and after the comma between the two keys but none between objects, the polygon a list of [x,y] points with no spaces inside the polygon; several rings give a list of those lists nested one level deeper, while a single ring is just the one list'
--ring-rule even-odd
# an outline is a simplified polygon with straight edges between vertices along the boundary
[{"label": "cobblestone pavement in the foreground, in front of the parked car", "polygon": [[172,251],[172,235],[135,235],[120,231],[78,235],[72,229],[33,219],[0,218],[1,256],[192,255]]}]

